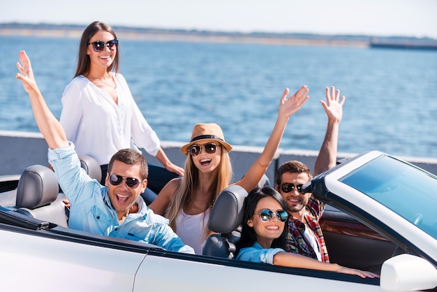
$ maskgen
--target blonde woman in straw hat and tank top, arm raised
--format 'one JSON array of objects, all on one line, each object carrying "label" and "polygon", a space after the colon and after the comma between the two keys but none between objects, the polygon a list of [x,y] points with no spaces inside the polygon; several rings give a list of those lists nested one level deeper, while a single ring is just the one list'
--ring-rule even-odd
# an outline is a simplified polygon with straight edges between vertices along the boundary
[{"label": "blonde woman in straw hat and tank top, arm raised", "polygon": [[[264,150],[246,175],[235,184],[251,191],[260,181],[279,147],[288,118],[306,103],[306,86],[288,97],[287,88],[280,99],[278,117]],[[220,192],[232,178],[229,152],[232,147],[225,141],[217,124],[195,124],[190,142],[181,148],[187,155],[184,177],[168,182],[149,207],[157,214],[165,214],[170,226],[196,254],[211,233],[207,228],[209,212]]]}]

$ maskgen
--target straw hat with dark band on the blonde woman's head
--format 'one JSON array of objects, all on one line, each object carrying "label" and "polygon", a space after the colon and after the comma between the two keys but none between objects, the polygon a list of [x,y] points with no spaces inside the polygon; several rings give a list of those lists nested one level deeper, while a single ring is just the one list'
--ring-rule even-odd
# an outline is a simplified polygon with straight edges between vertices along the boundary
[{"label": "straw hat with dark band on the blonde woman's head", "polygon": [[191,134],[190,143],[181,147],[181,152],[188,155],[188,151],[193,144],[198,144],[203,140],[216,140],[223,147],[225,147],[228,152],[232,149],[232,146],[225,142],[225,136],[223,131],[221,131],[218,124],[195,124],[193,127],[193,133]]}]

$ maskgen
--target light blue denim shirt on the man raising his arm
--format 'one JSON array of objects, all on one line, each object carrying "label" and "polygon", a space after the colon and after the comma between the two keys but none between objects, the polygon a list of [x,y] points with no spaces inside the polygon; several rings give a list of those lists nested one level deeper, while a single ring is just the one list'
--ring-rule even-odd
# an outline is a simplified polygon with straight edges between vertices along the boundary
[{"label": "light blue denim shirt on the man raising his arm", "polygon": [[108,188],[92,180],[80,167],[73,143],[67,147],[49,149],[48,158],[61,189],[71,203],[70,228],[194,254],[194,250],[185,245],[168,226],[168,219],[154,214],[141,196],[137,201],[138,212],[128,214],[124,222],[119,224]]}]

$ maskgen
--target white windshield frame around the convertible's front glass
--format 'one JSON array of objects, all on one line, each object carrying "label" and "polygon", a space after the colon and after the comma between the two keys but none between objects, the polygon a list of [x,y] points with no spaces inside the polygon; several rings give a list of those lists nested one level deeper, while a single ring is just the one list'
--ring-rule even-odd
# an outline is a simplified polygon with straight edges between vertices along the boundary
[{"label": "white windshield frame around the convertible's front glass", "polygon": [[[435,238],[370,196],[366,196],[361,191],[340,181],[342,177],[353,173],[380,156],[396,159],[379,151],[369,151],[345,159],[336,167],[311,180],[313,196],[350,214],[373,231],[398,244],[401,249],[410,249],[418,255],[421,254],[425,258],[429,258],[437,266],[437,240]],[[406,163],[405,161],[401,162]],[[410,163],[407,164],[408,167],[427,173]]]}]

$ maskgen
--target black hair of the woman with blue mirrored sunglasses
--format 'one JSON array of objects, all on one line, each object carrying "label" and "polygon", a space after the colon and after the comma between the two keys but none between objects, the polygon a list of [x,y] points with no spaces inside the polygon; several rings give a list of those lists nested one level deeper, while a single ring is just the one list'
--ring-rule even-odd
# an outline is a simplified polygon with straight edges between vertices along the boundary
[{"label": "black hair of the woman with blue mirrored sunglasses", "polygon": [[[286,201],[282,198],[281,194],[278,191],[273,189],[272,187],[263,187],[262,189],[256,188],[253,189],[247,195],[244,200],[244,216],[242,223],[242,237],[240,238],[237,244],[237,252],[244,247],[252,247],[256,242],[256,233],[253,227],[247,225],[247,221],[253,217],[253,213],[255,212],[256,205],[262,198],[272,197],[276,201],[278,201],[279,205],[283,208],[283,210],[287,210]],[[286,223],[287,224],[287,223]],[[286,226],[283,228],[283,232],[279,238],[276,238],[272,242],[272,248],[279,247],[281,249],[285,249],[286,247],[286,237],[287,237],[287,228]]]}]

